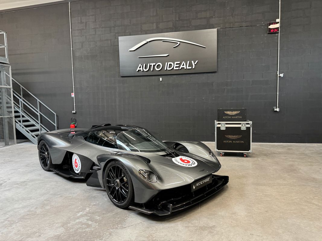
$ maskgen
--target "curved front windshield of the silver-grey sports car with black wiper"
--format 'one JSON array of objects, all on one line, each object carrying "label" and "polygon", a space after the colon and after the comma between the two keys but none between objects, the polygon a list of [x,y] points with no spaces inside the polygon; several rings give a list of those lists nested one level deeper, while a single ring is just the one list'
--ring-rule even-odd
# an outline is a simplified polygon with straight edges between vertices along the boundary
[{"label": "curved front windshield of the silver-grey sports car with black wiper", "polygon": [[117,135],[116,143],[120,150],[136,152],[168,152],[166,144],[157,140],[145,129],[123,131]]}]

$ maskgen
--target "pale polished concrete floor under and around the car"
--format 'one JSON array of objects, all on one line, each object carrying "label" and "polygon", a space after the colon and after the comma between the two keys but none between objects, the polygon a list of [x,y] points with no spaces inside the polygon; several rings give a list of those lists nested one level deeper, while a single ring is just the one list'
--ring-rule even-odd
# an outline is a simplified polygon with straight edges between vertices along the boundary
[{"label": "pale polished concrete floor under and around the car", "polygon": [[0,240],[322,239],[321,144],[255,143],[247,158],[218,158],[230,178],[222,192],[157,217],[43,171],[31,142],[0,148]]}]

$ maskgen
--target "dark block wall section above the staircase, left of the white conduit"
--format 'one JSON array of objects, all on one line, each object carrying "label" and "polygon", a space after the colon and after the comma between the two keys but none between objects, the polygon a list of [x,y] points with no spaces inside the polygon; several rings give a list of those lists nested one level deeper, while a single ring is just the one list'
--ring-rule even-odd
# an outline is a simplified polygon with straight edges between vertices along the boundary
[{"label": "dark block wall section above the staircase, left of the white conduit", "polygon": [[[1,13],[0,29],[7,32],[12,77],[56,112],[59,126],[66,127],[74,108],[68,3]],[[45,108],[43,112],[54,120]]]}]

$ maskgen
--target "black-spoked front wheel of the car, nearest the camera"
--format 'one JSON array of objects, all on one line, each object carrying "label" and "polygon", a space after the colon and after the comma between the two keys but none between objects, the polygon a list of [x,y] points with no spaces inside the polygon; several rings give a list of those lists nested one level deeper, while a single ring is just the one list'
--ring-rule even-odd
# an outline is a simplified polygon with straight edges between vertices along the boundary
[{"label": "black-spoked front wheel of the car, nearest the camera", "polygon": [[121,162],[111,161],[104,172],[104,186],[109,200],[118,208],[128,208],[134,203],[131,176]]}]

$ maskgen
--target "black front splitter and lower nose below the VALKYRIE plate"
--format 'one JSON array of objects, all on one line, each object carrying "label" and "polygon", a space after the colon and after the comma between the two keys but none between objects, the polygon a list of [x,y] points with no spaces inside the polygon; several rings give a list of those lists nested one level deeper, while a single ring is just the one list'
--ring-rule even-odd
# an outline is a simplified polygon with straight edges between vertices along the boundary
[{"label": "black front splitter and lower nose below the VALKYRIE plate", "polygon": [[[170,215],[172,212],[191,207],[220,191],[229,182],[229,176],[212,174],[212,183],[191,192],[191,184],[181,187],[161,190],[149,202],[141,206],[129,206],[130,209],[158,216]],[[178,196],[174,197],[173,193]],[[147,208],[151,207],[151,208]]]}]

